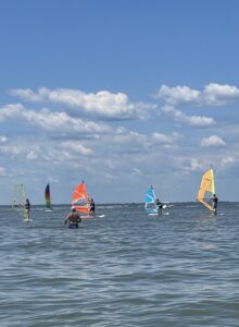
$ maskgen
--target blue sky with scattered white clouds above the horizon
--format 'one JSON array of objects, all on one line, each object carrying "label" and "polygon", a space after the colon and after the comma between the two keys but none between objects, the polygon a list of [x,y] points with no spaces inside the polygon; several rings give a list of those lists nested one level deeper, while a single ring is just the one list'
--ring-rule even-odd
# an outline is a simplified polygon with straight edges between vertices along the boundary
[{"label": "blue sky with scattered white clouds above the horizon", "polygon": [[0,2],[0,204],[238,201],[239,2]]}]

